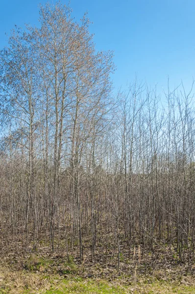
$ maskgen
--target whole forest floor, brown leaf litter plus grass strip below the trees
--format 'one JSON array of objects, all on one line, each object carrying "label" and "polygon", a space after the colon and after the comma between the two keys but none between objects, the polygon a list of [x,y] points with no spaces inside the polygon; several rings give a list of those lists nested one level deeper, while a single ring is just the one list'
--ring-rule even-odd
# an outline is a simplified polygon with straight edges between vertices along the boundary
[{"label": "whole forest floor, brown leaf litter plus grass strip below the trees", "polygon": [[93,262],[89,246],[80,259],[75,245],[68,259],[63,243],[52,254],[44,242],[36,251],[11,245],[0,248],[0,294],[195,294],[195,263],[188,270],[174,244],[158,243],[146,258],[124,242],[120,272],[117,253],[102,252],[100,245]]}]

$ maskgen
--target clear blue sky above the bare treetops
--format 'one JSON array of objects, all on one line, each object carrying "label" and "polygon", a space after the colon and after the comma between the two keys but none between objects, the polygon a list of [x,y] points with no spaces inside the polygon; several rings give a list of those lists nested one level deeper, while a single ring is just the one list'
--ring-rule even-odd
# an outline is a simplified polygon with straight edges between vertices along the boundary
[{"label": "clear blue sky above the bare treetops", "polygon": [[[38,24],[39,2],[46,1],[0,1],[0,48],[15,24]],[[71,0],[71,7],[76,20],[88,11],[96,48],[115,51],[116,88],[136,73],[160,91],[168,74],[173,86],[195,78],[195,0]]]}]

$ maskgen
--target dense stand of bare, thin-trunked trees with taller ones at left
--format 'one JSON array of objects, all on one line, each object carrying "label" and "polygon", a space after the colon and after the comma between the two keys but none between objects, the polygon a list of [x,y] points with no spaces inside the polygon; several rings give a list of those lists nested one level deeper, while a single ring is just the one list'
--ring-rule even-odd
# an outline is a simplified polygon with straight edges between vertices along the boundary
[{"label": "dense stand of bare, thin-trunked trees with taller ones at left", "polygon": [[1,50],[1,250],[44,243],[69,258],[77,246],[93,261],[98,247],[105,262],[118,256],[119,270],[122,254],[148,256],[162,242],[189,268],[193,85],[172,91],[168,81],[160,97],[136,80],[114,97],[113,53],[96,51],[89,24],[46,4],[40,26],[16,27]]}]

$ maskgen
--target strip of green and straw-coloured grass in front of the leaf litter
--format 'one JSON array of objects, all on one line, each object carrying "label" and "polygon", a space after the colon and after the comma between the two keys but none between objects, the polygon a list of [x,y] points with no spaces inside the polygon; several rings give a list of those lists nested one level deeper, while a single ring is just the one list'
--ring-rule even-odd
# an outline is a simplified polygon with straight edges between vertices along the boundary
[{"label": "strip of green and straw-coloured grass in front of the leaf litter", "polygon": [[118,278],[108,281],[101,278],[82,278],[73,274],[49,274],[42,266],[31,270],[0,268],[0,294],[193,294],[195,285],[191,277],[173,282],[150,278]]}]

